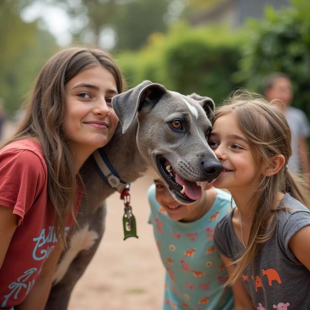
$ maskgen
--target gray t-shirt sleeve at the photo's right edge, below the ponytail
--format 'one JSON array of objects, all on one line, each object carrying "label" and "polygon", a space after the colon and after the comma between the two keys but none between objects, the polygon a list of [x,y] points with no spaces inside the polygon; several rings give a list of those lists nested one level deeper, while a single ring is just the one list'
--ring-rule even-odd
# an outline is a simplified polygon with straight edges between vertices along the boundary
[{"label": "gray t-shirt sleeve at the photo's right edge, below the ponytail", "polygon": [[299,263],[298,259],[290,251],[289,242],[291,237],[294,236],[301,228],[310,225],[310,212],[296,211],[287,217],[286,223],[283,225],[283,232],[281,233],[281,243],[284,246],[284,251],[288,258],[293,262]]}]

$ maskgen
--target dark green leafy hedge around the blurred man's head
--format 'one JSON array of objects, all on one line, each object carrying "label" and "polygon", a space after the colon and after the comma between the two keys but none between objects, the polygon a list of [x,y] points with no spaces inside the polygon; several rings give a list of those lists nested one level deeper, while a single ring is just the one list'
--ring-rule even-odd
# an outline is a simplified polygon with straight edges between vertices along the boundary
[{"label": "dark green leafy hedge around the blurred man's head", "polygon": [[263,92],[267,75],[283,72],[294,86],[293,105],[310,116],[310,1],[295,0],[280,11],[267,7],[262,21],[249,22],[236,81]]}]

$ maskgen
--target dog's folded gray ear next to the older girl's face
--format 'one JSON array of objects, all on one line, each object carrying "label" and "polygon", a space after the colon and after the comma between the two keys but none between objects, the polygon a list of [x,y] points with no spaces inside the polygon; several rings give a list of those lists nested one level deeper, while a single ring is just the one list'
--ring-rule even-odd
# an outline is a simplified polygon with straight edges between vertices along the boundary
[{"label": "dog's folded gray ear next to the older girl's face", "polygon": [[125,133],[134,121],[136,114],[146,104],[155,104],[167,92],[160,84],[144,81],[138,86],[112,98],[113,109]]}]

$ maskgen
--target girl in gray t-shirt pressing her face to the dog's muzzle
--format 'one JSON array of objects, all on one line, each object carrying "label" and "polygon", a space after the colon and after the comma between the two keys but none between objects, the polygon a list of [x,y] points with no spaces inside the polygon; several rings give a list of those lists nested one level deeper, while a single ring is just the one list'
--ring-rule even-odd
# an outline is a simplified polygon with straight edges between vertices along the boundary
[{"label": "girl in gray t-shirt pressing her face to the dog's muzzle", "polygon": [[310,309],[310,200],[287,168],[291,133],[282,112],[250,93],[215,112],[209,144],[215,180],[237,207],[215,228],[235,309]]}]

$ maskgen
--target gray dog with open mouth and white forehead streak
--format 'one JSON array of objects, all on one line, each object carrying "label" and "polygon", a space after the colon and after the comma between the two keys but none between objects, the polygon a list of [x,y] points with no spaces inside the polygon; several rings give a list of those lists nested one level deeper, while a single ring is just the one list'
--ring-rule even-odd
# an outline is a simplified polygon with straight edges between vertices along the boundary
[{"label": "gray dog with open mouth and white forehead streak", "polygon": [[[100,158],[95,158],[95,164],[92,157],[81,169],[86,195],[78,214],[79,228],[68,236],[68,250],[57,266],[46,310],[67,309],[73,287],[103,236],[104,200],[113,192],[122,192],[126,183],[151,169],[177,201],[191,204],[201,197],[196,182],[211,182],[223,169],[207,143],[211,129],[208,117],[214,113],[210,98],[184,96],[144,81],[115,96],[112,104],[120,124],[108,145],[99,150],[109,162],[98,172]],[[107,166],[112,166],[112,174],[119,178],[119,182],[112,180],[115,188],[107,184],[111,184],[111,175],[104,171]]]}]

